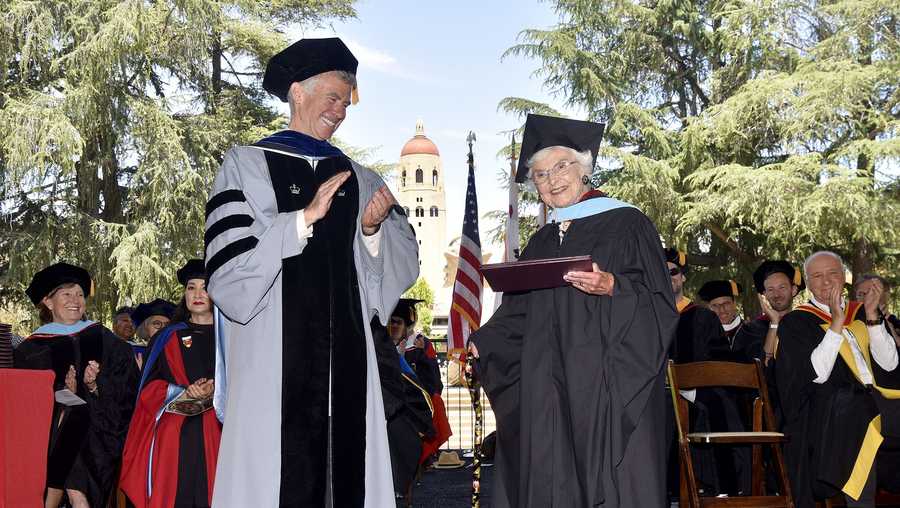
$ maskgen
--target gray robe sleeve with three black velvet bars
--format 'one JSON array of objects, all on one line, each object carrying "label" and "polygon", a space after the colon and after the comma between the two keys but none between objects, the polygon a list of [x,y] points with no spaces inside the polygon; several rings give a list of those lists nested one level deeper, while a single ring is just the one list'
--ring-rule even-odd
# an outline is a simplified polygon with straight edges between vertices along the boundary
[{"label": "gray robe sleeve with three black velvet bars", "polygon": [[306,245],[297,214],[279,213],[262,150],[228,151],[206,205],[206,269],[213,301],[246,324],[268,301],[281,260]]}]

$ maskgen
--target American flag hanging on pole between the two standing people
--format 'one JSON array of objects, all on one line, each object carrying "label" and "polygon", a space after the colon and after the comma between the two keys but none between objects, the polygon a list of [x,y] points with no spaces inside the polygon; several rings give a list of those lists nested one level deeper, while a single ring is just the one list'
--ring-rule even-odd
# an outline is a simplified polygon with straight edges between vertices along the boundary
[{"label": "American flag hanging on pole between the two standing people", "polygon": [[453,284],[453,303],[450,306],[448,356],[460,362],[466,359],[469,334],[481,324],[481,240],[478,236],[478,198],[475,195],[475,168],[469,164],[469,185],[466,189],[466,210],[463,216],[463,235],[459,240],[459,267]]}]

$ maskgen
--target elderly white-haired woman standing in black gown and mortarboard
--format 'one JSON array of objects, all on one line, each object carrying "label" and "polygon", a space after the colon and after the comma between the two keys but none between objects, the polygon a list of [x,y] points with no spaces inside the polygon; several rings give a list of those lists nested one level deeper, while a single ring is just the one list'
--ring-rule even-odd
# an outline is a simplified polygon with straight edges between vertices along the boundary
[{"label": "elderly white-haired woman standing in black gown and mortarboard", "polygon": [[590,255],[593,271],[505,294],[472,335],[497,417],[492,506],[666,505],[663,367],[678,316],[653,223],[589,185],[602,131],[526,122],[516,179],[531,174],[556,222],[521,259]]}]

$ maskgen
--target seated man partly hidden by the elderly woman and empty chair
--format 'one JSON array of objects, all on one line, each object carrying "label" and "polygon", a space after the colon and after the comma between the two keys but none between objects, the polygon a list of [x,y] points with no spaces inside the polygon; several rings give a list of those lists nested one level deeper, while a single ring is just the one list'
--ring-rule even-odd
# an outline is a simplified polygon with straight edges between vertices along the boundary
[{"label": "seated man partly hidden by the elderly woman and empty chair", "polygon": [[[679,312],[678,327],[675,340],[669,349],[669,358],[675,363],[704,362],[720,359],[715,356],[717,346],[726,343],[725,332],[719,317],[703,305],[697,305],[684,294],[684,283],[690,271],[687,255],[674,248],[666,249],[666,265],[675,294],[676,307]],[[694,432],[712,432],[726,430],[742,430],[741,416],[737,402],[724,388],[705,388],[700,390],[683,390],[681,396],[691,402],[691,430]],[[675,442],[676,428],[673,402],[666,399],[667,404],[667,449],[669,492],[678,491],[680,474],[678,447]],[[739,455],[736,457],[735,455]],[[744,489],[740,482],[746,477],[741,474],[744,453],[737,453],[726,447],[714,449],[696,449],[693,452],[694,473],[702,485],[705,494],[737,493]]]}]

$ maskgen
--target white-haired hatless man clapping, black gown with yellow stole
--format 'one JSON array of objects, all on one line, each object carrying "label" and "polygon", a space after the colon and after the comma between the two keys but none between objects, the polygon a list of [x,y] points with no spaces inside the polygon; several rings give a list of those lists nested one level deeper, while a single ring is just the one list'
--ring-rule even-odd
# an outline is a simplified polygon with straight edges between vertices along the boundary
[{"label": "white-haired hatless man clapping, black gown with yellow stole", "polygon": [[897,367],[878,314],[882,288],[862,303],[845,300],[845,267],[833,252],[812,254],[803,271],[812,298],[778,324],[775,356],[795,504],[842,492],[847,506],[874,506],[876,487],[896,476],[879,449],[900,437],[900,391],[879,379]]}]

